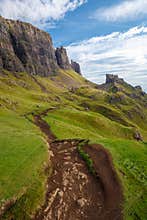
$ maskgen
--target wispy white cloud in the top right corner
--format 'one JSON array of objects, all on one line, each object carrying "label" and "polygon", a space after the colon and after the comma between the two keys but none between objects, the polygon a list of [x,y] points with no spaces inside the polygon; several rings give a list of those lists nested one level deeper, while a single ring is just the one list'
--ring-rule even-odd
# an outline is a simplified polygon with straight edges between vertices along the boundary
[{"label": "wispy white cloud in the top right corner", "polygon": [[122,1],[117,5],[99,8],[94,18],[106,21],[135,20],[147,15],[147,0]]}]

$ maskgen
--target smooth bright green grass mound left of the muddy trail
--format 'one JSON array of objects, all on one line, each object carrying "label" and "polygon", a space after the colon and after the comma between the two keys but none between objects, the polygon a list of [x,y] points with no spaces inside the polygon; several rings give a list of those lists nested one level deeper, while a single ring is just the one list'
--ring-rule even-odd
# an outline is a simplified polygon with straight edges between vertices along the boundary
[{"label": "smooth bright green grass mound left of the muddy trail", "polygon": [[21,219],[22,213],[33,213],[35,204],[44,200],[47,145],[39,130],[14,112],[1,110],[0,121],[0,204],[23,198],[21,209],[15,209],[16,219]]}]

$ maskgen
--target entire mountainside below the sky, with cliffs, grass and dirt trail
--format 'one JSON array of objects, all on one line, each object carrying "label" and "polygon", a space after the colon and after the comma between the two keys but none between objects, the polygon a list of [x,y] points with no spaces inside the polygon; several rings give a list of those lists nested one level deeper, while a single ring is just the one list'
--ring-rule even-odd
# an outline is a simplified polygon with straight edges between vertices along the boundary
[{"label": "entire mountainside below the sky, with cliffs, grass and dirt trail", "polygon": [[81,75],[64,47],[0,17],[0,218],[146,219],[147,94]]}]

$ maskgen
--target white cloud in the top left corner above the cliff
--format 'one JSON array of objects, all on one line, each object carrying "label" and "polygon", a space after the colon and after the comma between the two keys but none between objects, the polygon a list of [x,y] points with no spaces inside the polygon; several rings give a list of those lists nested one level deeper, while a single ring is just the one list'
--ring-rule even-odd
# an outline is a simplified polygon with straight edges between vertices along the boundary
[{"label": "white cloud in the top left corner above the cliff", "polygon": [[37,26],[51,24],[86,0],[0,0],[0,15]]}]

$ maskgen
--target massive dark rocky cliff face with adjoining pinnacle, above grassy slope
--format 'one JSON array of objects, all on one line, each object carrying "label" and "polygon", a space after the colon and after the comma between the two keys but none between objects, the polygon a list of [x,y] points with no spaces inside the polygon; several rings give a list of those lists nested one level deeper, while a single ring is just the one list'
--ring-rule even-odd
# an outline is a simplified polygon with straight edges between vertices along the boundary
[{"label": "massive dark rocky cliff face with adjoining pinnacle, above grassy slope", "polygon": [[[66,49],[53,47],[50,35],[31,24],[0,17],[0,67],[49,76],[71,69]],[[79,71],[79,67],[74,68]]]}]

